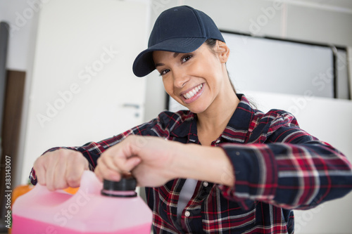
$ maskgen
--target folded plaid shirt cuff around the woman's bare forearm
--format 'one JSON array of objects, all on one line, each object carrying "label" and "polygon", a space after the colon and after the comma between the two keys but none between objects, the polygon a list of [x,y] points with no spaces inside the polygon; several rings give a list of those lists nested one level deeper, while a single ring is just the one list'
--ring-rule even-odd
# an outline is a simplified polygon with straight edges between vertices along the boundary
[{"label": "folded plaid shirt cuff around the woman's bare forearm", "polygon": [[243,209],[253,206],[255,200],[272,200],[277,188],[277,167],[270,149],[260,145],[219,145],[234,168],[234,186],[223,186],[222,195],[239,202]]}]

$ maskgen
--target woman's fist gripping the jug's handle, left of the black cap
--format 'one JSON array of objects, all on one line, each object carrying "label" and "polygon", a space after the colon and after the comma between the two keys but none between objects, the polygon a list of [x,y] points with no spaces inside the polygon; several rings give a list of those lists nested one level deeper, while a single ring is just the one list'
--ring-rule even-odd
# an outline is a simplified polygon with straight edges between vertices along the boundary
[{"label": "woman's fist gripping the jug's handle, left of the black cap", "polygon": [[84,170],[89,169],[88,160],[81,152],[59,149],[46,152],[34,162],[33,169],[38,183],[49,190],[80,186]]}]

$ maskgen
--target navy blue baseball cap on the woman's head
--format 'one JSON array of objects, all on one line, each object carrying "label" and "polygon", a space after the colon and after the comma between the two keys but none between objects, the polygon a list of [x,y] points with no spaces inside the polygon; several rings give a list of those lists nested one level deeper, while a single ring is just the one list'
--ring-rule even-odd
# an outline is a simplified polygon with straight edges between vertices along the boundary
[{"label": "navy blue baseball cap on the woman's head", "polygon": [[190,53],[207,39],[225,42],[215,22],[206,13],[191,6],[176,6],[163,11],[151,31],[148,48],[134,60],[133,72],[137,77],[144,77],[155,70],[153,51]]}]

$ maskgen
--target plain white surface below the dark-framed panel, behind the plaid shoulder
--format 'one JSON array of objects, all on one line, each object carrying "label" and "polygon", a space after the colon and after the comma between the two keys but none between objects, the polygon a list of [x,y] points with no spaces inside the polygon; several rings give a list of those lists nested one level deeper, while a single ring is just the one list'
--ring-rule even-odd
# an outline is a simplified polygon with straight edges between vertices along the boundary
[{"label": "plain white surface below the dark-framed panel, behind the plaid shoulder", "polygon": [[[287,110],[294,114],[301,129],[333,145],[352,162],[352,101],[250,92],[246,95],[259,110]],[[351,233],[352,193],[326,202],[315,209],[295,211],[295,233]]]}]

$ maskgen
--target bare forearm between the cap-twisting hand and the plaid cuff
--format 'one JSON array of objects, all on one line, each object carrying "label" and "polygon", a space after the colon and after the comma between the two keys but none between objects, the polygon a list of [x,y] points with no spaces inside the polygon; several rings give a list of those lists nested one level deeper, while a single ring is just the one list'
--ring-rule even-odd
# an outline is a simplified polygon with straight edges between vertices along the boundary
[{"label": "bare forearm between the cap-twisting hand and the plaid cuff", "polygon": [[194,178],[234,186],[234,169],[222,148],[180,144],[172,171],[179,178]]}]

